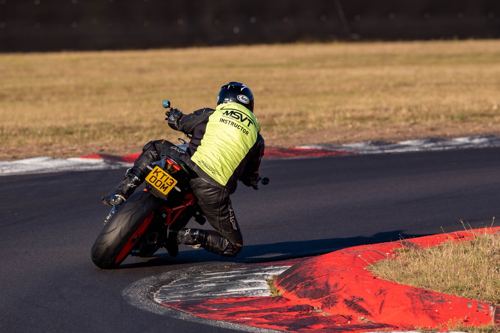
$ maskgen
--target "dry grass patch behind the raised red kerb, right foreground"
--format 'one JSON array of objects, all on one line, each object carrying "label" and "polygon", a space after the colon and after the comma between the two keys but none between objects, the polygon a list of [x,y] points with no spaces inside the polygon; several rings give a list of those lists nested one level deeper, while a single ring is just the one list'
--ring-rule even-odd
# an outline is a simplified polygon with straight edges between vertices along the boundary
[{"label": "dry grass patch behind the raised red kerb, right foreground", "polygon": [[[424,249],[404,248],[394,260],[367,268],[380,278],[500,306],[500,235],[483,233],[470,241],[446,241]],[[469,327],[460,318],[447,329],[500,332],[500,327]]]}]

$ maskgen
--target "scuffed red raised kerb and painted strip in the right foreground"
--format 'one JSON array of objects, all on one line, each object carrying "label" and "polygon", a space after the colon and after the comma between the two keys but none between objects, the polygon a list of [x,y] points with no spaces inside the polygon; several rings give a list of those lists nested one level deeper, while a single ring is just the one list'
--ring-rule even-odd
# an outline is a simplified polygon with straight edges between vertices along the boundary
[{"label": "scuffed red raised kerb and painted strip in the right foreground", "polygon": [[[429,247],[446,240],[467,241],[500,227],[363,245],[306,258],[276,281],[282,297],[199,299],[164,303],[197,316],[288,332],[363,332],[447,329],[447,324],[499,324],[491,304],[375,278],[366,266],[396,257],[394,249]],[[280,265],[286,262],[280,262]]]}]

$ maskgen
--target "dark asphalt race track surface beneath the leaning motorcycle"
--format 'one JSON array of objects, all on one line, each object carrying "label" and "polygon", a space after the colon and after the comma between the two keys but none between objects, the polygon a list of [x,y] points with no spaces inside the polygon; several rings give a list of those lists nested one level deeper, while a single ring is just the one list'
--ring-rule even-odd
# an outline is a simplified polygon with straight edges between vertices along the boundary
[{"label": "dark asphalt race track surface beneath the leaning motorcycle", "polygon": [[500,216],[499,148],[264,160],[269,185],[232,196],[245,239],[237,258],[181,248],[176,258],[161,252],[101,270],[90,259],[108,213],[100,198],[124,171],[0,177],[0,331],[238,331],[138,306],[125,291],[165,282],[158,276],[463,230],[461,220],[480,228]]}]

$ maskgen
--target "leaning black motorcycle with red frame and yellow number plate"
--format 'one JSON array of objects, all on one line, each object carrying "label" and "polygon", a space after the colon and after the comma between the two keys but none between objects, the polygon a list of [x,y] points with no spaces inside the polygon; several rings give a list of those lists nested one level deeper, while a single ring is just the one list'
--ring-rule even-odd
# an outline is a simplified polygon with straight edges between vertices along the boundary
[{"label": "leaning black motorcycle with red frame and yellow number plate", "polygon": [[[166,115],[173,110],[168,100],[163,102],[163,107],[169,109]],[[178,147],[185,150],[186,141],[179,140],[181,145]],[[184,228],[192,218],[200,225],[205,223],[203,212],[189,187],[190,172],[183,161],[162,155],[160,160],[148,166],[148,170],[146,188],[133,193],[123,204],[114,206],[106,217],[91,250],[96,266],[117,268],[129,255],[151,256],[162,247],[169,248],[169,228]],[[260,177],[259,181],[263,185],[269,183],[268,178]],[[258,189],[257,185],[253,187]]]}]

